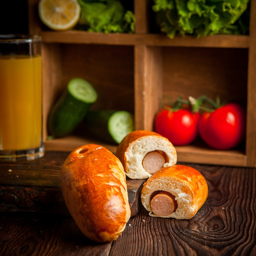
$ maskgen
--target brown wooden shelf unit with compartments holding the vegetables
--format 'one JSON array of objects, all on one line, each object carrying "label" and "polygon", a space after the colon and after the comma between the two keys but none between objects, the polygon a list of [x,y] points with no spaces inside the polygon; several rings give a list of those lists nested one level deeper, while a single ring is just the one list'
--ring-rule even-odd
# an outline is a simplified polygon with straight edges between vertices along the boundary
[{"label": "brown wooden shelf unit with compartments holding the vegetables", "polygon": [[[150,0],[134,1],[135,34],[45,29],[37,14],[38,0],[28,1],[29,31],[43,40],[45,148],[72,150],[95,141],[76,133],[47,140],[47,115],[67,81],[81,76],[99,92],[96,107],[119,108],[135,115],[135,129],[153,130],[155,114],[167,94],[209,97],[242,104],[247,134],[233,150],[213,150],[200,139],[176,147],[179,162],[256,166],[256,3],[251,1],[250,35],[193,36],[169,39],[151,29]],[[102,143],[101,143],[102,144]],[[106,145],[115,152],[115,145]]]}]

